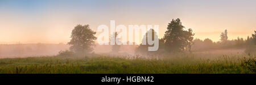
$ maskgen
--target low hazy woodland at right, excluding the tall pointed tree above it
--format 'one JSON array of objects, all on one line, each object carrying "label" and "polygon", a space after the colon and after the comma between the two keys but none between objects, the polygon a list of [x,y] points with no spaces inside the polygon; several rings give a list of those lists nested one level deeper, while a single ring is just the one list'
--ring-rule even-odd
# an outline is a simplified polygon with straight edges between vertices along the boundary
[{"label": "low hazy woodland at right, excluding the tall pointed tree above it", "polygon": [[213,42],[210,39],[193,40],[192,50],[213,50],[213,49],[246,49],[246,53],[256,53],[255,44],[252,37],[247,37],[247,39],[243,39],[237,37],[234,40],[226,40],[226,41],[217,41]]}]

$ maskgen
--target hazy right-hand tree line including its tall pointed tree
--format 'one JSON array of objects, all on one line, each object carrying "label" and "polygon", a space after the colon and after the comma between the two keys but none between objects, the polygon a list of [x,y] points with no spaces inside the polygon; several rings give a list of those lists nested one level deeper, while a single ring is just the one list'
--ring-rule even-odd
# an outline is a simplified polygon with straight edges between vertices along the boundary
[{"label": "hazy right-hand tree line including its tall pointed tree", "polygon": [[193,50],[210,50],[210,49],[249,49],[255,48],[256,45],[256,31],[251,36],[247,36],[247,39],[243,39],[237,37],[237,39],[228,40],[228,36],[226,35],[228,32],[221,33],[220,41],[213,42],[210,39],[200,40],[195,39],[193,42],[195,43],[192,47]]}]

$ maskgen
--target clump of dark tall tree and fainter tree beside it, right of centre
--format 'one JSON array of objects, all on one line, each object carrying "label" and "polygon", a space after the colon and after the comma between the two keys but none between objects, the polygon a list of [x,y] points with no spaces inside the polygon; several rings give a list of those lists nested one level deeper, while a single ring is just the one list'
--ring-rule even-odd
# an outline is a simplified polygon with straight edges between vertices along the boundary
[{"label": "clump of dark tall tree and fainter tree beside it, right of centre", "polygon": [[[144,54],[159,54],[159,53],[174,53],[179,52],[184,49],[191,51],[191,46],[193,44],[193,36],[195,33],[192,33],[192,29],[189,28],[188,31],[184,30],[184,26],[181,24],[180,19],[172,19],[171,23],[168,24],[167,31],[164,34],[162,39],[159,39],[159,49],[156,52],[147,52],[146,45],[139,45],[136,52]],[[154,30],[152,30],[154,31]],[[154,35],[155,32],[152,32]],[[154,36],[153,36],[154,37]],[[142,40],[147,41],[147,33],[144,35]],[[154,39],[153,39],[154,40]]]}]

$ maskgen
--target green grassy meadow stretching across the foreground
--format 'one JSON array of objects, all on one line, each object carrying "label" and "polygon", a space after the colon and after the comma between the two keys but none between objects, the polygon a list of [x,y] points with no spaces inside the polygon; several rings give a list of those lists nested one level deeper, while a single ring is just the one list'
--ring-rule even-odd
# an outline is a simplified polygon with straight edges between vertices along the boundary
[{"label": "green grassy meadow stretching across the foreground", "polygon": [[0,73],[255,73],[255,55],[205,57],[196,54],[142,57],[28,57],[0,59]]}]

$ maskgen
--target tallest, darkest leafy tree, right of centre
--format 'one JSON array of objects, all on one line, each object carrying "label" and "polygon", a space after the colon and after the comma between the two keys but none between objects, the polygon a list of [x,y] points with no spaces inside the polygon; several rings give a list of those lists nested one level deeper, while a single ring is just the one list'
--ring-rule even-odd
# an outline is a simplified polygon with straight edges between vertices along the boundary
[{"label": "tallest, darkest leafy tree, right of centre", "polygon": [[192,29],[184,31],[185,28],[180,19],[172,19],[171,23],[168,24],[167,31],[164,34],[164,43],[168,46],[169,50],[183,50],[185,46],[192,45],[193,33]]}]

